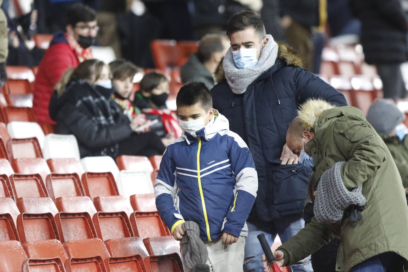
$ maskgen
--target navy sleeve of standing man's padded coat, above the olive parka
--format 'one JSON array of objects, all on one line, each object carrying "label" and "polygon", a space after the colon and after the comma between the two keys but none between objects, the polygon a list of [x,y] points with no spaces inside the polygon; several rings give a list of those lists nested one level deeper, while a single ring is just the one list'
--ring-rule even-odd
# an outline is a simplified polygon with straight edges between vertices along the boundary
[{"label": "navy sleeve of standing man's padded coat, above the olive parka", "polygon": [[322,98],[336,106],[347,106],[346,98],[342,93],[306,69],[301,68],[297,72],[295,88],[296,101],[299,105],[309,98]]}]

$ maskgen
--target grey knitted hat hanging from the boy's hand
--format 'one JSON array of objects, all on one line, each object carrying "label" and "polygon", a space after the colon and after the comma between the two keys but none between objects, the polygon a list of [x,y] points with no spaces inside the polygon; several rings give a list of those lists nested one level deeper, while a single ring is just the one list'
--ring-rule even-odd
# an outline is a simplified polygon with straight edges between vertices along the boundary
[{"label": "grey knitted hat hanging from the boy's hand", "polygon": [[210,268],[206,264],[208,250],[200,239],[200,228],[197,223],[186,221],[182,228],[185,232],[181,240],[184,265],[190,268],[191,272],[209,272]]}]

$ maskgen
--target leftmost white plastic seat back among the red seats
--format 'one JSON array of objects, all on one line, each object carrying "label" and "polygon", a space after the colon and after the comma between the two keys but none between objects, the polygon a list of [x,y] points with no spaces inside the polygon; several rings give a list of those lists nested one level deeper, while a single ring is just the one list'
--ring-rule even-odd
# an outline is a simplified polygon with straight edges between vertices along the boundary
[{"label": "leftmost white plastic seat back among the red seats", "polygon": [[7,131],[13,139],[25,139],[36,137],[41,148],[44,146],[44,131],[35,122],[13,121],[7,124]]}]

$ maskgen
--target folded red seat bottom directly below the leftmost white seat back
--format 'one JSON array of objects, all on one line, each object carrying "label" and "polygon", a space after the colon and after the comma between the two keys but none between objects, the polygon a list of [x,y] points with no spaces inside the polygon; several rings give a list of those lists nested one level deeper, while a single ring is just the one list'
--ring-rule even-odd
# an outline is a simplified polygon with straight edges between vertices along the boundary
[{"label": "folded red seat bottom directly below the leftmost white seat back", "polygon": [[40,143],[37,138],[11,139],[14,159],[42,158]]}]

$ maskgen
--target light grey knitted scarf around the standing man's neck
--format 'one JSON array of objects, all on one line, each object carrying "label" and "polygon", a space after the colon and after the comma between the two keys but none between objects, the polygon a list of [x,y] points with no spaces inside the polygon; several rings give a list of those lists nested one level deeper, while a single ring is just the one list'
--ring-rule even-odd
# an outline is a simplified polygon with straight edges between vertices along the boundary
[{"label": "light grey knitted scarf around the standing man's neck", "polygon": [[279,46],[273,40],[271,35],[266,35],[266,37],[269,39],[268,43],[266,43],[265,47],[262,49],[261,56],[254,68],[238,69],[234,63],[231,47],[228,49],[224,61],[222,62],[222,67],[224,68],[228,85],[231,87],[233,93],[245,93],[249,84],[254,82],[259,75],[275,64]]}]

